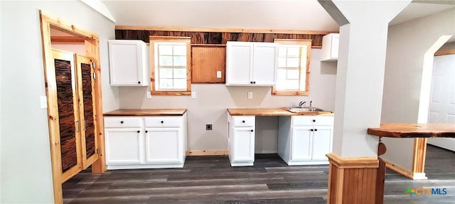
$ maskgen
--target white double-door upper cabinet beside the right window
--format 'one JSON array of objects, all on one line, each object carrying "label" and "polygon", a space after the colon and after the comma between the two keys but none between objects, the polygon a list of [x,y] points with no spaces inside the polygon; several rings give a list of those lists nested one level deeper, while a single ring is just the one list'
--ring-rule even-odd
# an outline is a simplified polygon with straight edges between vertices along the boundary
[{"label": "white double-door upper cabinet beside the right window", "polygon": [[278,43],[227,42],[226,85],[274,86],[277,83]]}]

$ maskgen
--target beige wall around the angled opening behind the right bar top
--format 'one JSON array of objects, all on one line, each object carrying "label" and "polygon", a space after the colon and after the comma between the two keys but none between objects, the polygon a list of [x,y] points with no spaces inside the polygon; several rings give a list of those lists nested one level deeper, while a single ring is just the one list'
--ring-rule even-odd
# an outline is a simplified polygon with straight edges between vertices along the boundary
[{"label": "beige wall around the angled opening behind the right bar top", "polygon": [[[389,28],[382,123],[417,123],[424,53],[441,35],[455,34],[454,16],[455,9],[451,9]],[[414,140],[383,138],[382,141],[387,146],[384,158],[411,171]]]}]

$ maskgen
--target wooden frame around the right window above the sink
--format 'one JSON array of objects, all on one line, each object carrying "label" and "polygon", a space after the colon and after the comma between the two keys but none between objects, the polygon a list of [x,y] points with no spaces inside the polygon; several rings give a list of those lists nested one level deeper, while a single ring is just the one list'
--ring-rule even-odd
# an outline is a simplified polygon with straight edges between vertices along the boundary
[{"label": "wooden frame around the right window above the sink", "polygon": [[[306,45],[306,64],[299,67],[299,84],[301,79],[305,78],[305,90],[302,91],[287,91],[278,90],[277,86],[272,86],[272,95],[274,96],[309,96],[309,79],[310,79],[310,62],[311,62],[311,41],[312,40],[299,40],[299,39],[274,39],[279,45]],[[279,48],[278,48],[279,49]],[[301,59],[301,57],[300,57]],[[278,67],[277,67],[278,69]],[[303,74],[306,74],[304,76]]]}]

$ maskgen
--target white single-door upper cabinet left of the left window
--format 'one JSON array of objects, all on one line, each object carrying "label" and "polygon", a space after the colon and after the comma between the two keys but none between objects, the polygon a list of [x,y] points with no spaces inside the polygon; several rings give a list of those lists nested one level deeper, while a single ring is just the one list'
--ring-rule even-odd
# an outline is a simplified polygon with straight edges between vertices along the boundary
[{"label": "white single-door upper cabinet left of the left window", "polygon": [[147,49],[142,40],[108,40],[111,86],[148,86]]}]

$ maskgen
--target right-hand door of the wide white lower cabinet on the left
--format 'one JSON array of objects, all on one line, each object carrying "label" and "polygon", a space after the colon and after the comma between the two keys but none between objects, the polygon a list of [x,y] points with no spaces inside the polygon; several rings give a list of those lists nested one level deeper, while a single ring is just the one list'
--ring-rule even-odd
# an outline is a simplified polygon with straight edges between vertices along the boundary
[{"label": "right-hand door of the wide white lower cabinet on the left", "polygon": [[147,128],[145,136],[146,163],[183,163],[181,128]]}]

